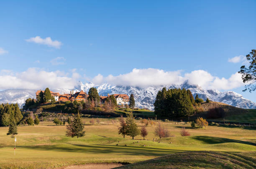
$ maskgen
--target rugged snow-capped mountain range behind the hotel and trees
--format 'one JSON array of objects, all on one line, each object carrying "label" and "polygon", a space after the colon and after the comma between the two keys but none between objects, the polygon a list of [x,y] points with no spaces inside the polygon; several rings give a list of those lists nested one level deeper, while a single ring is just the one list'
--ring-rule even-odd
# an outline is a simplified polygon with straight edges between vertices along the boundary
[{"label": "rugged snow-capped mountain range behind the hotel and trees", "polygon": [[[239,108],[256,108],[256,103],[243,98],[241,94],[238,94],[233,91],[218,91],[218,90],[205,90],[198,85],[191,85],[187,81],[181,85],[170,85],[170,86],[149,86],[149,87],[133,87],[133,86],[112,86],[108,83],[103,83],[101,85],[95,85],[93,83],[85,83],[83,84],[81,81],[77,84],[77,86],[73,89],[76,91],[85,91],[88,93],[91,87],[96,87],[98,93],[102,96],[108,96],[109,94],[128,94],[131,93],[134,95],[134,99],[136,102],[136,106],[139,108],[150,108],[154,110],[154,101],[156,98],[156,94],[163,87],[168,88],[186,88],[189,89],[193,96],[196,94],[204,100],[209,98],[212,101],[218,101],[222,103],[229,104],[231,106],[236,106]],[[60,89],[55,88],[52,91],[59,92],[61,94],[70,93],[72,89]],[[18,103],[19,106],[22,106],[25,103],[25,100],[29,97],[35,98],[34,90],[28,89],[8,89],[5,91],[0,91],[0,103]]]}]

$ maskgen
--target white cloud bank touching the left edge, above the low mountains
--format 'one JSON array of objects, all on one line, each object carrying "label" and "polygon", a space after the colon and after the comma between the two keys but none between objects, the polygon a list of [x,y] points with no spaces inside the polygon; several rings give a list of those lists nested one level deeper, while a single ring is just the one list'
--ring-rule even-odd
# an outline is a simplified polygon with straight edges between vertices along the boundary
[{"label": "white cloud bank touching the left edge, above the low mountains", "polygon": [[77,73],[72,73],[71,77],[60,76],[61,71],[44,71],[38,68],[28,68],[21,73],[12,71],[0,71],[0,89],[8,88],[27,88],[27,89],[44,89],[69,88],[72,89],[77,84]]}]

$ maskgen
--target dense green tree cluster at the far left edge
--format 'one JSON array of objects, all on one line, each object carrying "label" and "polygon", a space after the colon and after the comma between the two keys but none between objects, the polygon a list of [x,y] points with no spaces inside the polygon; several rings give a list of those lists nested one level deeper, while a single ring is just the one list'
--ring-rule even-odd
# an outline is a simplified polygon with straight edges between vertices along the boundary
[{"label": "dense green tree cluster at the far left edge", "polygon": [[9,126],[11,123],[19,124],[22,120],[18,104],[0,104],[0,126]]}]

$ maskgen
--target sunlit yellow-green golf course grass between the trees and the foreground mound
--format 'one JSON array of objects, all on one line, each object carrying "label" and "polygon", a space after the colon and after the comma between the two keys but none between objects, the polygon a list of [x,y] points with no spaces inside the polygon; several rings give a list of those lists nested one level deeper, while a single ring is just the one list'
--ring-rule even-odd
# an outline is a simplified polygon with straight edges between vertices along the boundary
[{"label": "sunlit yellow-green golf course grass between the trees and the foreground mound", "polygon": [[[86,136],[79,139],[66,137],[66,126],[54,126],[52,122],[41,122],[38,126],[18,126],[15,156],[14,139],[6,135],[8,127],[0,127],[0,168],[134,163],[183,151],[222,151],[233,154],[256,151],[256,130],[219,126],[191,129],[184,122],[170,122],[163,124],[174,137],[162,139],[158,143],[153,141],[156,138],[154,126],[147,126],[148,140],[144,141],[140,140],[141,136],[135,137],[138,140],[131,140],[128,136],[123,139],[117,132],[117,120],[100,119],[100,124],[94,125],[90,125],[90,118],[84,118],[83,121]],[[141,126],[139,122],[138,126]],[[180,136],[183,126],[191,136]]]}]

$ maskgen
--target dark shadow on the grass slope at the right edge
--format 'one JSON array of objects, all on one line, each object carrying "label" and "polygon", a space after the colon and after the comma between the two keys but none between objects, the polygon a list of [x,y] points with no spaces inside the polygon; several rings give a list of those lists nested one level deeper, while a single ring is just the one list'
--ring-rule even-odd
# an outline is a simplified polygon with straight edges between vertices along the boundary
[{"label": "dark shadow on the grass slope at the right edge", "polygon": [[241,143],[248,144],[252,146],[256,146],[255,143],[251,143],[248,141],[234,140],[234,139],[226,139],[221,137],[211,137],[211,136],[193,136],[193,139],[203,141],[205,144],[221,144],[221,143]]}]

